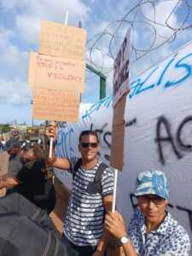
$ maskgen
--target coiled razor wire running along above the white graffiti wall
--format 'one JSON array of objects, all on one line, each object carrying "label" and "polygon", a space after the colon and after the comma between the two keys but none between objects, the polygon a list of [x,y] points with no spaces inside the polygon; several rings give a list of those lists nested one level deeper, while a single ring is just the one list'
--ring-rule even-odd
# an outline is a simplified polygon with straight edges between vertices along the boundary
[{"label": "coiled razor wire running along above the white graffiti wall", "polygon": [[[162,49],[166,44],[177,41],[178,35],[184,33],[192,27],[192,3],[191,0],[139,0],[120,20],[115,20],[106,28],[87,41],[87,61],[100,72],[108,76],[113,70],[113,60],[122,44],[125,30],[131,26],[131,64],[142,60],[144,56],[155,53],[155,50]],[[166,19],[158,20],[160,4],[174,3]],[[152,17],[146,12],[149,10]],[[172,20],[177,12],[182,10],[177,26]],[[145,34],[148,35],[147,39]],[[142,44],[138,44],[138,36],[141,37]],[[147,41],[147,42],[146,42]],[[148,44],[146,44],[148,43]],[[100,56],[96,61],[96,56]],[[101,61],[102,60],[102,61]],[[98,63],[99,62],[99,63]],[[107,65],[105,64],[107,62]],[[93,74],[88,79],[93,78]]]}]

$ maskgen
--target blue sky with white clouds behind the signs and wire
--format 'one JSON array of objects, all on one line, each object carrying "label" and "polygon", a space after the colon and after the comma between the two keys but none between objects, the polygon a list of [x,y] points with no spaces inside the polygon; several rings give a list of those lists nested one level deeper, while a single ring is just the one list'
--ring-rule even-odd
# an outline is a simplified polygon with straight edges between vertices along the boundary
[{"label": "blue sky with white clouds behind the signs and wire", "polygon": [[[148,49],[172,38],[174,28],[192,23],[190,14],[191,0],[188,7],[177,0],[151,1],[152,4],[141,4],[129,15],[125,15],[135,7],[138,0],[0,0],[0,123],[31,123],[30,102],[32,92],[27,86],[27,68],[30,51],[38,50],[38,36],[41,20],[64,23],[66,11],[69,11],[68,25],[78,26],[79,20],[87,30],[86,61],[108,77],[108,94],[112,91],[113,57],[125,36],[129,21],[133,21],[133,45],[136,49]],[[155,19],[154,19],[155,13]],[[170,15],[172,13],[172,15]],[[189,14],[189,15],[188,15]],[[119,22],[125,17],[119,29]],[[143,23],[143,20],[145,21]],[[156,23],[152,23],[155,20]],[[128,22],[127,22],[128,21]],[[112,23],[113,22],[113,23]],[[169,27],[165,26],[168,24]],[[184,27],[183,26],[183,27]],[[106,29],[108,27],[108,29]],[[170,29],[172,27],[172,29]],[[101,33],[105,31],[104,34]],[[115,40],[111,39],[115,36]],[[96,40],[100,37],[99,40]],[[151,67],[156,62],[170,55],[172,50],[191,40],[191,28],[177,34],[172,44],[164,44],[136,61],[131,55],[131,77]],[[94,45],[94,48],[93,48]],[[92,49],[92,50],[90,50]],[[137,50],[138,54],[143,51]],[[96,102],[99,98],[99,79],[86,72],[86,91],[83,102]]]}]

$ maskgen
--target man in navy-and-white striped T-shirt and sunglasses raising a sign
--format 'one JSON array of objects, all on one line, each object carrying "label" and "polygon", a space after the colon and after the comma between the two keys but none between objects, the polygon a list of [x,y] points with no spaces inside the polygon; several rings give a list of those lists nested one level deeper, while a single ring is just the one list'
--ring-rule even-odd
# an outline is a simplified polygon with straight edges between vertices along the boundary
[{"label": "man in navy-and-white striped T-shirt and sunglasses raising a sign", "polygon": [[[56,132],[52,124],[46,135],[55,139]],[[70,256],[102,256],[108,236],[103,230],[104,217],[105,212],[111,210],[113,201],[113,169],[107,166],[103,170],[99,181],[101,192],[98,192],[95,177],[101,161],[98,159],[99,140],[95,131],[81,132],[79,152],[81,164],[77,170],[78,158],[53,156],[53,160],[48,160],[52,166],[73,174],[72,195],[63,226],[64,242]]]}]

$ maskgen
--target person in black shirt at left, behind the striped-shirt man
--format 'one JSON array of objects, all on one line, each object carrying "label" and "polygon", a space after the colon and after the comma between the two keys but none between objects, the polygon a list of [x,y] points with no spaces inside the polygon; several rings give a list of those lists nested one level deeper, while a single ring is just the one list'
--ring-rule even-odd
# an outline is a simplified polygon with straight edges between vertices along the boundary
[{"label": "person in black shirt at left, behind the striped-shirt man", "polygon": [[55,207],[55,189],[45,178],[45,162],[42,151],[37,146],[26,150],[20,158],[22,167],[15,177],[0,179],[1,188],[15,188],[15,192],[25,196],[36,206],[48,213]]}]

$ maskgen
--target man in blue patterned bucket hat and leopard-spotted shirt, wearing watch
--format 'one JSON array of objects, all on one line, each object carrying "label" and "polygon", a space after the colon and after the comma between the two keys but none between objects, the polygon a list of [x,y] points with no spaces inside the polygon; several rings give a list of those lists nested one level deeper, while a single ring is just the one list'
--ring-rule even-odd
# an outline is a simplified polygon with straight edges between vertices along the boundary
[{"label": "man in blue patterned bucket hat and leopard-spotted shirt, wearing watch", "polygon": [[166,209],[169,189],[165,174],[140,173],[134,195],[138,207],[128,232],[119,212],[109,212],[105,220],[106,229],[118,239],[125,256],[189,256],[189,235]]}]

